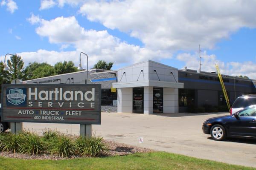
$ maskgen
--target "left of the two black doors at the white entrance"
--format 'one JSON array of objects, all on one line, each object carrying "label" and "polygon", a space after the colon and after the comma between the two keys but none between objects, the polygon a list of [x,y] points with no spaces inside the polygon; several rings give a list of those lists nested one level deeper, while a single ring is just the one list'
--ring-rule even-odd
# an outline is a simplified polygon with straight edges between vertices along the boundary
[{"label": "left of the two black doors at the white entrance", "polygon": [[143,96],[144,96],[144,88],[133,88],[132,91],[132,111],[134,113],[143,113],[144,105],[143,105]]}]

